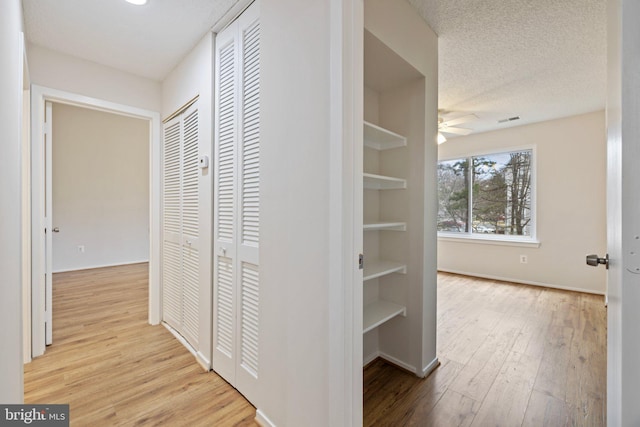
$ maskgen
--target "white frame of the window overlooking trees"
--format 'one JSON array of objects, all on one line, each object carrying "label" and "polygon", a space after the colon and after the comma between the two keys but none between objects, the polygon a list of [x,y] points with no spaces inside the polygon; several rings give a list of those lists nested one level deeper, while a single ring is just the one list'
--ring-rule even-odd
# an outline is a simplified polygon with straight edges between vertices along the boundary
[{"label": "white frame of the window overlooking trees", "polygon": [[[522,145],[502,147],[492,150],[474,151],[470,153],[454,155],[450,157],[438,159],[438,163],[447,162],[451,160],[468,159],[471,160],[474,157],[488,156],[493,154],[506,154],[518,151],[531,151],[531,235],[530,236],[510,236],[503,234],[482,234],[473,233],[471,231],[465,231],[460,233],[453,233],[447,231],[438,231],[438,241],[450,241],[450,242],[465,242],[465,243],[480,243],[490,245],[501,246],[519,246],[519,247],[540,247],[540,241],[537,239],[537,147],[535,145]],[[471,164],[471,163],[470,163]],[[469,173],[469,170],[467,170]],[[473,185],[473,184],[472,184]],[[472,193],[471,190],[468,190]],[[440,200],[438,200],[440,204]],[[469,217],[470,222],[473,223],[473,194],[469,194]]]}]

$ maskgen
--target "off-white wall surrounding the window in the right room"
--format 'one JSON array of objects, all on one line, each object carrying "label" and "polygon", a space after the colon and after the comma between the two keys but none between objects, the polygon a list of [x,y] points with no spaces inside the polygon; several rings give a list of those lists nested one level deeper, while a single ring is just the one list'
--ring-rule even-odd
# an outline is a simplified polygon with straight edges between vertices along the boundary
[{"label": "off-white wall surrounding the window in the right room", "polygon": [[[438,242],[438,268],[514,282],[604,293],[605,269],[585,255],[606,252],[604,113],[594,112],[453,138],[439,158],[535,146],[536,229],[540,247]],[[520,255],[528,263],[521,264]]]}]

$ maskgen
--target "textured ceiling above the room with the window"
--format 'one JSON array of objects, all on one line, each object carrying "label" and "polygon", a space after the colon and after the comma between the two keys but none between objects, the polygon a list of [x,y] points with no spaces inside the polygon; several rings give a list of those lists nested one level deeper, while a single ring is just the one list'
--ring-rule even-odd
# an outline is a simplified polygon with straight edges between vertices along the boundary
[{"label": "textured ceiling above the room with the window", "polygon": [[[603,109],[606,0],[410,0],[438,34],[441,109],[476,132]],[[455,115],[455,114],[453,114]],[[498,124],[500,119],[520,120]]]}]

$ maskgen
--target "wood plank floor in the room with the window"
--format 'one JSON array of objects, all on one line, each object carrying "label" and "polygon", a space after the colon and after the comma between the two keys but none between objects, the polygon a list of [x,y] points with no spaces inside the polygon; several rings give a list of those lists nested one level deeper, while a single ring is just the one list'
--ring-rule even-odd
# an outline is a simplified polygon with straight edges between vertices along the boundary
[{"label": "wood plank floor in the room with the window", "polygon": [[604,426],[602,296],[438,275],[438,351],[428,378],[377,360],[365,426]]}]

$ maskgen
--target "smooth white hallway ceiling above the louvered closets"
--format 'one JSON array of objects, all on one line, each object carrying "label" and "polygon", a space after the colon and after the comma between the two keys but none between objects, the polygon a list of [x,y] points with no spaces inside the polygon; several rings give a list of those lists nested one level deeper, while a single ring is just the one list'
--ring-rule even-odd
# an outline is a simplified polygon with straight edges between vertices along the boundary
[{"label": "smooth white hallway ceiling above the louvered closets", "polygon": [[34,44],[161,81],[238,0],[23,0]]}]

